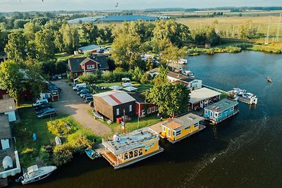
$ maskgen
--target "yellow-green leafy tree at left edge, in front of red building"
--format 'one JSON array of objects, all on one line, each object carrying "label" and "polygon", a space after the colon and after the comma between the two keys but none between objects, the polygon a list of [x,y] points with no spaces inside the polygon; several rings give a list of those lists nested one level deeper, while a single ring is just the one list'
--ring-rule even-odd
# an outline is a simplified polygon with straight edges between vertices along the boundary
[{"label": "yellow-green leafy tree at left edge, in front of red building", "polygon": [[23,77],[23,73],[20,72],[20,65],[15,61],[8,60],[1,64],[0,87],[8,91],[8,95],[16,100],[17,106],[20,94],[25,91]]}]

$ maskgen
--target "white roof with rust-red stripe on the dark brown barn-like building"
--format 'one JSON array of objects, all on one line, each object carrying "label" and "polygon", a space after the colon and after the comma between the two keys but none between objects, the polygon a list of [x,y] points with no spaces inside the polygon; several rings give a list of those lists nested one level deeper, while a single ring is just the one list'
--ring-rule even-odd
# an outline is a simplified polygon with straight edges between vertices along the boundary
[{"label": "white roof with rust-red stripe on the dark brown barn-like building", "polygon": [[101,97],[106,103],[108,103],[110,106],[117,106],[120,104],[125,104],[128,102],[136,101],[132,96],[130,96],[128,93],[123,91],[109,91],[109,92],[103,92],[99,94],[94,94],[94,97]]}]

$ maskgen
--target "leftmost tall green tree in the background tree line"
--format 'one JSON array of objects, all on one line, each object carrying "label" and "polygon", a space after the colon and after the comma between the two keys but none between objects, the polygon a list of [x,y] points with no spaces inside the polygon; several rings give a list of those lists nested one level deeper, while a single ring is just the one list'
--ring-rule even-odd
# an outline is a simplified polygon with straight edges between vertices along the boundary
[{"label": "leftmost tall green tree in the background tree line", "polygon": [[5,52],[8,59],[18,63],[25,61],[27,54],[25,51],[27,39],[21,32],[12,32],[8,35],[8,44],[6,44]]}]

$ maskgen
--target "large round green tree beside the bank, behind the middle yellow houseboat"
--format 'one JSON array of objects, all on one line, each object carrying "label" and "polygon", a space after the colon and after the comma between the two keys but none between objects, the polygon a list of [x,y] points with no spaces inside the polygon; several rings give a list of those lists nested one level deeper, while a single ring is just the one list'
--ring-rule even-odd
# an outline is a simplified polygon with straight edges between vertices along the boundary
[{"label": "large round green tree beside the bank, behind the middle yellow houseboat", "polygon": [[188,111],[190,90],[183,84],[165,83],[154,85],[149,92],[146,92],[146,100],[159,106],[159,113],[171,117]]}]

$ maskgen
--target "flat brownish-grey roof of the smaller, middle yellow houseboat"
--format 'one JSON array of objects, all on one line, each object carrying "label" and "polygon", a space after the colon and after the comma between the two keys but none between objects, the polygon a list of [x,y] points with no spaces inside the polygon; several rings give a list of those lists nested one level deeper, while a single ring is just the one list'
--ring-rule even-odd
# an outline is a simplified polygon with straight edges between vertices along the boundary
[{"label": "flat brownish-grey roof of the smaller, middle yellow houseboat", "polygon": [[163,125],[164,127],[171,128],[172,130],[180,130],[182,129],[182,127],[193,125],[201,120],[204,120],[204,118],[202,118],[199,115],[195,115],[194,113],[188,113],[173,118],[172,120],[169,120],[167,123],[164,123]]}]

